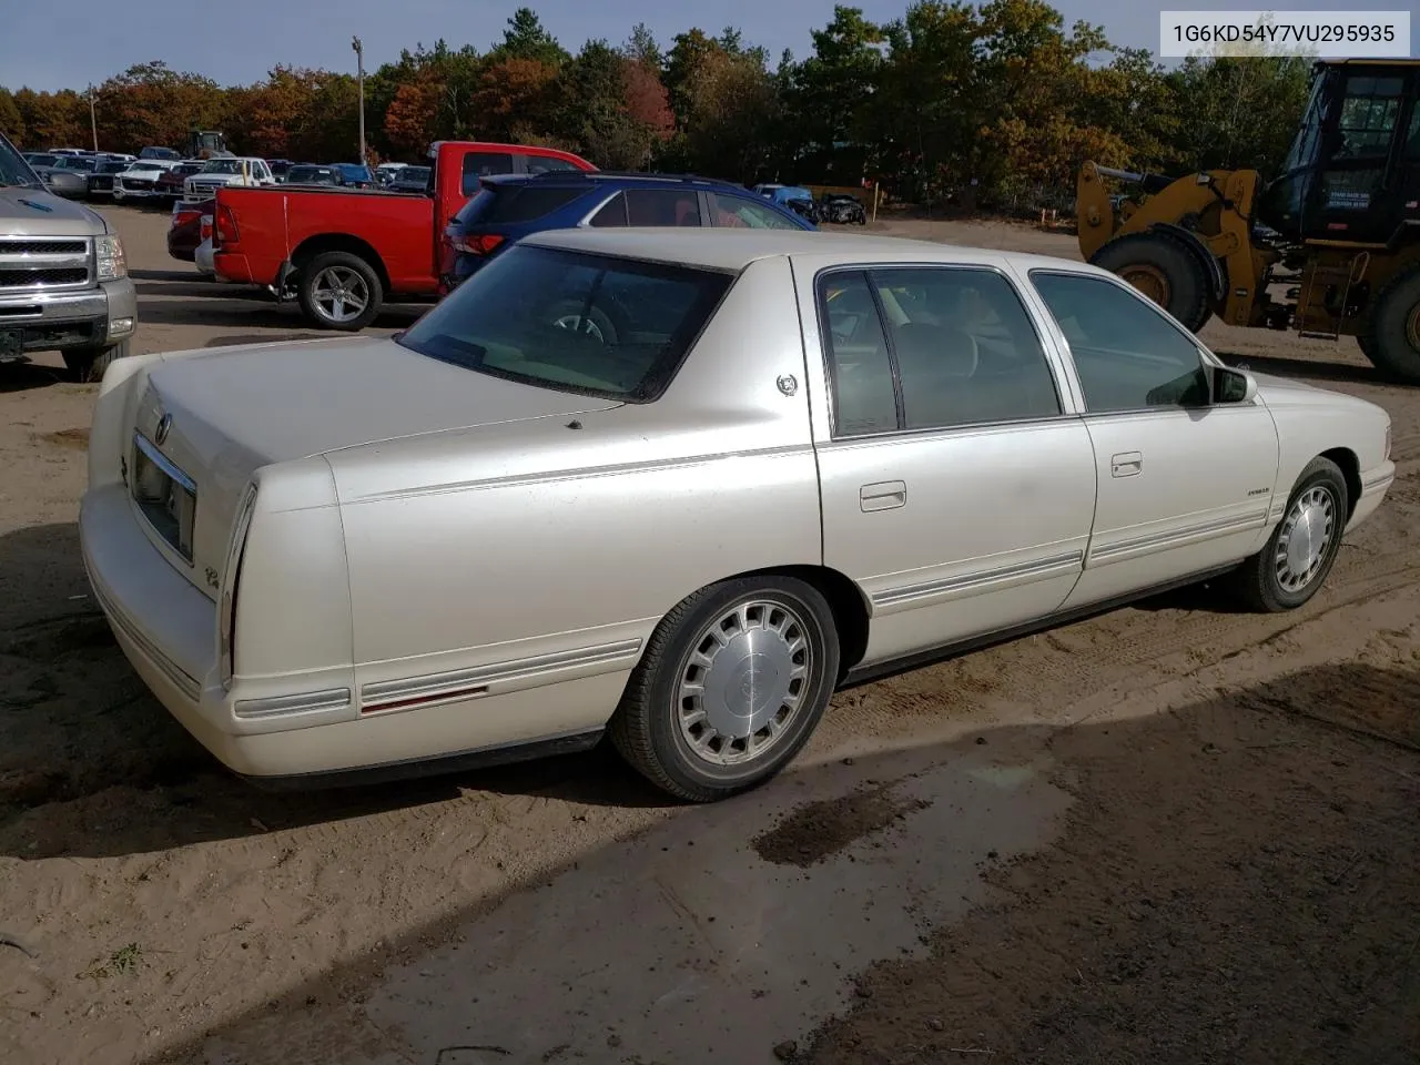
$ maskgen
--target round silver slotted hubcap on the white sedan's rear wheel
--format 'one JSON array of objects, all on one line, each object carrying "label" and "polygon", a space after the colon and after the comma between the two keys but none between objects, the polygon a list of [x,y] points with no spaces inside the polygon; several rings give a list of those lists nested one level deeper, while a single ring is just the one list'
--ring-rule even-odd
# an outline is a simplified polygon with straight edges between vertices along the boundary
[{"label": "round silver slotted hubcap on the white sedan's rear wheel", "polygon": [[680,736],[716,765],[758,758],[798,716],[814,666],[808,626],[788,606],[751,601],[706,626],[680,670]]}]

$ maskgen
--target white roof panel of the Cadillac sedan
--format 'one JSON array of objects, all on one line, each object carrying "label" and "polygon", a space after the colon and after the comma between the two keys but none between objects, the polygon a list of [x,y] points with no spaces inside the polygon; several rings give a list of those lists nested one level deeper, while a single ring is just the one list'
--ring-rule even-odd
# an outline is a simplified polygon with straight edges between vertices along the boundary
[{"label": "white roof panel of the Cadillac sedan", "polygon": [[592,254],[643,258],[656,263],[740,271],[760,258],[777,256],[814,256],[865,260],[946,261],[1001,266],[1007,261],[1022,267],[1071,268],[1105,274],[1098,267],[1055,256],[1038,256],[1000,248],[941,244],[906,237],[825,233],[822,230],[726,227],[643,227],[643,229],[561,229],[523,237],[523,244],[558,247]]}]

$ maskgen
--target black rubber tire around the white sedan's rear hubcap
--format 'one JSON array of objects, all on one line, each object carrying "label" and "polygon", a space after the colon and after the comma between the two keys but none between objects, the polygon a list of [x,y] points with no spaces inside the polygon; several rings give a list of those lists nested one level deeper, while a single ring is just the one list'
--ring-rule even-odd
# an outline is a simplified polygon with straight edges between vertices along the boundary
[{"label": "black rubber tire around the white sedan's rear hubcap", "polygon": [[[747,754],[743,748],[736,750],[736,744],[741,743],[740,738],[731,737],[726,741],[724,736],[707,727],[713,720],[710,714],[719,716],[721,721],[728,716],[728,703],[720,703],[716,713],[717,707],[706,706],[701,697],[700,709],[704,711],[706,724],[700,726],[699,736],[687,737],[686,733],[696,724],[692,723],[684,728],[682,726],[680,682],[682,677],[690,676],[693,669],[701,670],[701,677],[706,680],[714,676],[713,670],[706,670],[693,662],[694,652],[697,648],[714,645],[710,629],[717,619],[724,619],[738,608],[753,604],[763,606],[751,611],[751,628],[760,621],[781,621],[785,616],[790,619],[787,632],[798,628],[807,652],[805,676],[799,679],[797,689],[797,710],[784,719],[782,733],[771,738],[761,754],[750,754],[746,761],[727,765],[717,763],[714,757],[697,754],[692,741],[707,737],[704,750],[711,755],[737,758]],[[780,612],[778,618],[775,611]],[[731,643],[734,638],[731,633]],[[757,655],[763,660],[770,656],[772,649]],[[747,791],[780,772],[808,741],[836,687],[838,659],[834,612],[812,585],[791,577],[736,578],[711,585],[682,601],[656,626],[646,653],[632,673],[621,706],[612,717],[609,726],[612,744],[633,768],[676,798],[713,802]],[[743,660],[746,659],[740,659]],[[785,659],[784,665],[788,662]],[[730,659],[726,660],[727,670],[733,665]],[[751,693],[751,710],[755,680],[753,669],[751,666],[748,673],[736,670],[724,674],[724,679],[733,680],[734,684],[727,690],[747,686],[746,690]],[[765,676],[778,677],[772,663],[760,679]],[[785,711],[785,701],[794,689],[785,687],[778,704],[774,699],[775,689],[777,684],[767,687],[770,697],[758,707],[760,714]],[[692,700],[687,700],[687,704],[694,706]],[[746,727],[753,726],[755,720],[751,717]],[[717,741],[720,747],[713,748]]]}]

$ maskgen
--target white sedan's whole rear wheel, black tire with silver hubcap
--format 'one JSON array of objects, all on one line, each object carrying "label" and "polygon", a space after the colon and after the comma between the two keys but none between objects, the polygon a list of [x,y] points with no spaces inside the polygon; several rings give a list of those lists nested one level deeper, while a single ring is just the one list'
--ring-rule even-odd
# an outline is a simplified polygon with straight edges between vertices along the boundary
[{"label": "white sedan's whole rear wheel, black tire with silver hubcap", "polygon": [[834,694],[838,659],[834,613],[812,585],[711,585],[652,633],[612,717],[612,743],[677,798],[727,798],[798,754]]}]

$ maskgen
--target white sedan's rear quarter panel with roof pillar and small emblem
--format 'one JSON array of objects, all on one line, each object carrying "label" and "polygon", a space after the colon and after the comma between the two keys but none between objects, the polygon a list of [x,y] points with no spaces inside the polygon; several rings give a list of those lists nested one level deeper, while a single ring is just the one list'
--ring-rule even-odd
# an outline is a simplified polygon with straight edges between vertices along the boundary
[{"label": "white sedan's rear quarter panel with roof pillar and small emblem", "polygon": [[359,683],[616,642],[633,662],[692,592],[819,564],[808,390],[784,395],[781,375],[802,382],[805,364],[775,258],[741,275],[655,403],[329,453]]}]

